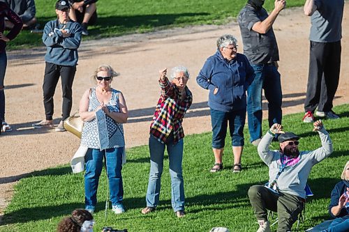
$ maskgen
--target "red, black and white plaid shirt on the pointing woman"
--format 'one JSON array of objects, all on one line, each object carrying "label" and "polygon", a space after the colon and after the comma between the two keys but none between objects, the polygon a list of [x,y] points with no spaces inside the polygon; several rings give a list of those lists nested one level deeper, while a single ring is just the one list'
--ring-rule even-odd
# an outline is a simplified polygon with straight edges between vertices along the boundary
[{"label": "red, black and white plaid shirt on the pointing woman", "polygon": [[186,98],[181,100],[181,91],[167,77],[158,81],[161,87],[161,96],[156,105],[153,121],[150,125],[150,134],[165,143],[173,132],[174,144],[184,138],[181,122],[186,111],[193,102],[193,95],[188,87],[185,88]]}]

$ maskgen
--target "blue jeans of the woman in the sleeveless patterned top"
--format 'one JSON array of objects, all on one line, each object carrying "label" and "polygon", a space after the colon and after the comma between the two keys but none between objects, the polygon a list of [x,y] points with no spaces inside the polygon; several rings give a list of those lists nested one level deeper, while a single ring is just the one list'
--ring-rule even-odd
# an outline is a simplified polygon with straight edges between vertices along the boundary
[{"label": "blue jeans of the woman in the sleeveless patterned top", "polygon": [[122,186],[121,163],[124,148],[105,150],[89,148],[85,155],[85,207],[94,209],[97,203],[98,180],[103,168],[103,157],[107,167],[110,201],[112,206],[122,203],[124,188]]}]

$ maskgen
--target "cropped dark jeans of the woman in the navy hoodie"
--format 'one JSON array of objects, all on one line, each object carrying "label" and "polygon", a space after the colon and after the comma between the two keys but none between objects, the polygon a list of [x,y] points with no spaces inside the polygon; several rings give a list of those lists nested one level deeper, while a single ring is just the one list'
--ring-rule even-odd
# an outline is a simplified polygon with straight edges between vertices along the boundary
[{"label": "cropped dark jeans of the woman in the navy hoodie", "polygon": [[216,109],[210,109],[210,111],[212,125],[212,148],[224,148],[228,121],[230,137],[232,137],[232,146],[244,146],[246,109],[230,112],[219,111]]}]

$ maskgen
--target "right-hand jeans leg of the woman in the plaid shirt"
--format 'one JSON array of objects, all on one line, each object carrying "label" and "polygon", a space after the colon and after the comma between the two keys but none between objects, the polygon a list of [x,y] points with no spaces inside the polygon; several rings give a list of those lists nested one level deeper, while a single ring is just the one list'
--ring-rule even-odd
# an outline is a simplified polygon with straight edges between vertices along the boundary
[{"label": "right-hand jeans leg of the woman in the plaid shirt", "polygon": [[166,142],[171,176],[171,203],[174,212],[177,212],[177,217],[183,217],[185,197],[181,164],[183,160],[184,140],[181,139],[177,144],[174,144],[173,139],[173,136],[171,136],[168,142]]}]

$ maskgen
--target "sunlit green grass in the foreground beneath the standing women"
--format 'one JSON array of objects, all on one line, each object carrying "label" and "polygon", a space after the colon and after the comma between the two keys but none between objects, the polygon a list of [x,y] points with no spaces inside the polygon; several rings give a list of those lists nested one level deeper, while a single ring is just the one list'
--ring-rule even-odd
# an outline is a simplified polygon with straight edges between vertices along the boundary
[{"label": "sunlit green grass in the foreground beneath the standing women", "polygon": [[[334,185],[348,161],[349,105],[334,109],[341,118],[325,120],[325,126],[334,142],[334,153],[315,165],[309,185],[315,196],[308,199],[306,221],[309,228],[327,219],[327,205]],[[299,134],[300,150],[313,150],[320,146],[318,134],[312,125],[302,123],[302,114],[285,116],[285,130]],[[267,130],[264,121],[264,129]],[[246,141],[248,132],[245,130]],[[211,133],[195,134],[185,138],[184,184],[186,192],[186,217],[177,219],[171,208],[168,157],[161,186],[161,202],[157,210],[142,215],[149,174],[149,150],[147,146],[128,149],[128,162],[123,169],[124,206],[126,213],[114,215],[108,211],[105,219],[106,177],[101,176],[98,188],[98,206],[94,217],[95,231],[103,226],[113,226],[128,231],[209,231],[213,226],[226,226],[232,231],[255,231],[255,217],[246,196],[248,187],[267,181],[267,166],[260,160],[255,147],[246,144],[242,156],[244,171],[232,173],[232,155],[227,139],[224,157],[225,169],[209,173],[214,159],[211,153]],[[278,144],[273,143],[273,148]],[[6,208],[0,231],[55,231],[57,223],[75,208],[84,207],[84,177],[72,174],[68,165],[36,171],[22,178],[15,185],[13,200]],[[275,230],[275,227],[274,227]]]}]

